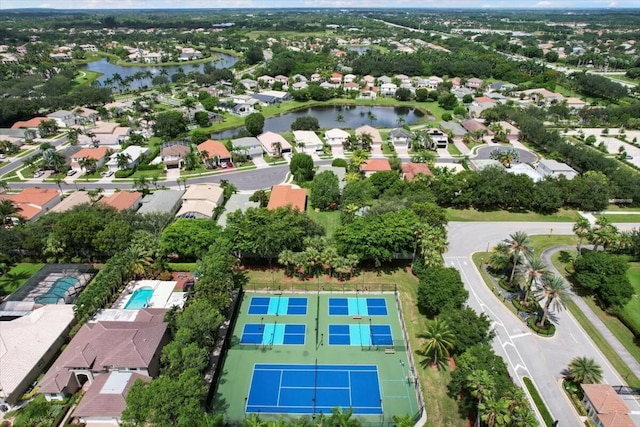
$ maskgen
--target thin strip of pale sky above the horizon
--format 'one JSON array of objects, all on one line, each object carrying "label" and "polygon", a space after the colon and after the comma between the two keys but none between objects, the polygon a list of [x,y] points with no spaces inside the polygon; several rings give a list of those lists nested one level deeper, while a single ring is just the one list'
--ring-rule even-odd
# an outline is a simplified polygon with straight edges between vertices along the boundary
[{"label": "thin strip of pale sky above the horizon", "polygon": [[640,0],[0,0],[0,9],[180,9],[277,7],[640,8]]}]

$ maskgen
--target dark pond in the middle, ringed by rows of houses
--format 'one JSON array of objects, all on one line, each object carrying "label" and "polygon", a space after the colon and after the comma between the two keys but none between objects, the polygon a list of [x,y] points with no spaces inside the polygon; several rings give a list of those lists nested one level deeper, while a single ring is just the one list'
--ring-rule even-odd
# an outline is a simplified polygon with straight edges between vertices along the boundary
[{"label": "dark pond in the middle, ringed by rows of houses", "polygon": [[[363,125],[390,128],[399,124],[411,124],[424,117],[424,114],[422,111],[412,107],[368,107],[364,105],[309,107],[265,119],[264,130],[265,132],[288,132],[291,130],[291,123],[298,117],[303,116],[317,118],[322,129],[355,129]],[[338,120],[340,118],[342,119],[341,121]],[[236,128],[213,133],[211,138],[233,138],[240,130],[241,128]]]}]

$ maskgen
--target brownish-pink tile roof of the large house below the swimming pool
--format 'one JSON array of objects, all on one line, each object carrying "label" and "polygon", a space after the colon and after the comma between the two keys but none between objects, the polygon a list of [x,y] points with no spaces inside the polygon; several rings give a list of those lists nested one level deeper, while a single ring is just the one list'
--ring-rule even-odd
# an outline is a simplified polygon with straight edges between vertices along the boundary
[{"label": "brownish-pink tile roof of the large house below the swimming pool", "polygon": [[111,368],[148,369],[162,345],[167,324],[151,316],[146,321],[87,323],[73,337],[40,381],[41,393],[57,394],[71,377],[71,368],[101,372]]}]

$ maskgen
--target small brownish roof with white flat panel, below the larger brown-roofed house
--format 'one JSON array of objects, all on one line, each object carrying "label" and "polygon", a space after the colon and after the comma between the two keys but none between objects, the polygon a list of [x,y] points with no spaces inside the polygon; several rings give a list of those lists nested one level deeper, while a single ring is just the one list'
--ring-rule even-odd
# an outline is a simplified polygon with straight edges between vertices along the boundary
[{"label": "small brownish roof with white flat panel, below the larger brown-roofed house", "polygon": [[127,406],[125,397],[138,379],[151,381],[151,377],[135,372],[111,372],[95,377],[73,416],[120,418]]}]

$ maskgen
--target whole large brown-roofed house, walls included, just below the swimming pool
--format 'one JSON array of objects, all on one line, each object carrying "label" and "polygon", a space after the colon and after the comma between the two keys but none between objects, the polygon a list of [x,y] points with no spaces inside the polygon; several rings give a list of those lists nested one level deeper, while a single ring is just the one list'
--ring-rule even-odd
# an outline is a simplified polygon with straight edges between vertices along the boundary
[{"label": "whole large brown-roofed house, walls included, just below the swimming pool", "polygon": [[143,309],[133,321],[84,324],[42,378],[38,392],[48,401],[62,400],[110,372],[157,376],[160,352],[169,340],[165,313]]}]

